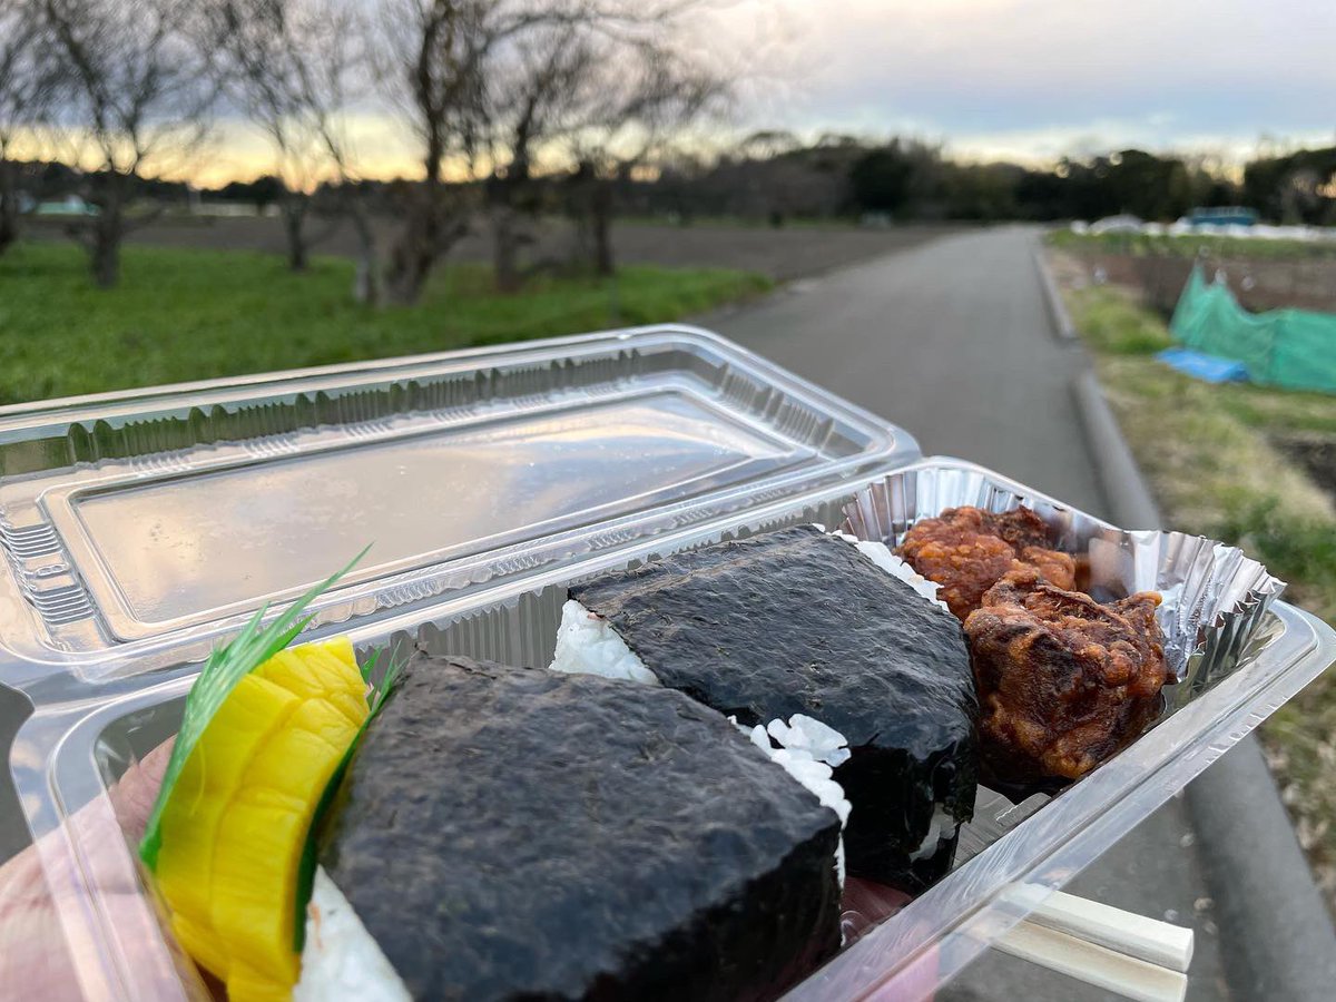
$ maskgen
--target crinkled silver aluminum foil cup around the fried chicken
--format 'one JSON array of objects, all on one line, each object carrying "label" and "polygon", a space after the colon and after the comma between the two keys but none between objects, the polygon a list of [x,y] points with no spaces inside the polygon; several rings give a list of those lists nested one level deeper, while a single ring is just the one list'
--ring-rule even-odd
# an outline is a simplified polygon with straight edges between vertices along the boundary
[{"label": "crinkled silver aluminum foil cup around the fried chicken", "polygon": [[1157,615],[1173,680],[1161,719],[1238,665],[1285,589],[1237,546],[1181,532],[1118,529],[978,468],[919,464],[891,473],[844,505],[843,529],[895,546],[921,518],[959,505],[1033,509],[1053,528],[1058,549],[1086,558],[1096,599],[1161,593]]}]

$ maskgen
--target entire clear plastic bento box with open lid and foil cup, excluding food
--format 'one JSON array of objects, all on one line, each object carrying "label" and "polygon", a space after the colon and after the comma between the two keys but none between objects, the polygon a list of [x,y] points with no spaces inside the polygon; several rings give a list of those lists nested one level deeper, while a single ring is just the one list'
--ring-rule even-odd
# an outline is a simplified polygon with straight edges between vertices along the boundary
[{"label": "entire clear plastic bento box with open lid and foil cup, excluding food", "polygon": [[794,986],[803,999],[947,981],[1336,660],[1331,628],[1237,550],[922,458],[908,433],[693,329],[8,409],[0,464],[0,681],[35,705],[11,770],[87,998],[200,991],[107,791],[175,733],[216,643],[367,541],[309,628],[363,657],[546,665],[572,581],[807,522],[894,545],[958,504],[1023,504],[1097,587],[1173,596],[1156,724],[1025,810],[981,790],[951,872]]}]

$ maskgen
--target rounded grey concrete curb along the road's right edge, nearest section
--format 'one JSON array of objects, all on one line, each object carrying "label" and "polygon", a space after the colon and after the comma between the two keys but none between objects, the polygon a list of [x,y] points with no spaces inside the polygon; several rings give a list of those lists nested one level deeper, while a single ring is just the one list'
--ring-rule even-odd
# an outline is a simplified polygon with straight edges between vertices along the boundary
[{"label": "rounded grey concrete curb along the road's right edge, nearest section", "polygon": [[[1093,370],[1073,394],[1090,458],[1118,525],[1161,524]],[[1233,1002],[1325,1002],[1336,994],[1336,929],[1253,735],[1186,790],[1206,886],[1216,903]]]}]

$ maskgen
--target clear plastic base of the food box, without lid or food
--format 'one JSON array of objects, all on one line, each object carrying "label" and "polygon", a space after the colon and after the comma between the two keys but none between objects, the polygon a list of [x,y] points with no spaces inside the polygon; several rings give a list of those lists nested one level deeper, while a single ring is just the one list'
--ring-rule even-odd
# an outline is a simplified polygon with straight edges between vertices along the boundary
[{"label": "clear plastic base of the food box, without lid or food", "polygon": [[[978,466],[922,460],[758,502],[745,513],[632,532],[616,549],[538,565],[524,576],[441,596],[425,607],[354,617],[342,627],[323,624],[314,635],[346,632],[362,655],[418,643],[440,652],[546,664],[568,581],[782,525],[839,525],[844,505],[863,488],[925,470],[970,480],[978,485],[981,504],[1006,498],[1003,504],[1019,501],[1050,516],[1073,512]],[[1333,660],[1336,635],[1328,627],[1273,603],[1236,671],[1194,692],[1132,747],[1038,811],[1014,810],[981,795],[975,820],[962,834],[969,852],[962,852],[961,864],[796,986],[791,997],[852,999],[875,993],[911,999],[931,991]],[[198,987],[180,974],[179,958],[159,931],[154,902],[139,882],[131,848],[116,834],[107,796],[130,762],[175,732],[195,672],[194,665],[178,664],[150,676],[106,676],[96,684],[65,688],[64,699],[39,699],[19,735],[15,778],[59,903],[61,934],[88,998],[182,998]]]}]

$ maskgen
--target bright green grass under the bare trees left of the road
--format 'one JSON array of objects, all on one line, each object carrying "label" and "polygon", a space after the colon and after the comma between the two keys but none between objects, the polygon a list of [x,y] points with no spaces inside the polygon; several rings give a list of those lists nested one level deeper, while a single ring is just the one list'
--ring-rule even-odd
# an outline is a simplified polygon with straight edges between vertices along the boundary
[{"label": "bright green grass under the bare trees left of the road", "polygon": [[76,247],[24,243],[0,257],[0,403],[672,321],[770,287],[625,267],[505,297],[485,266],[452,265],[418,305],[377,310],[353,302],[353,265],[335,258],[294,275],[277,255],[127,247],[122,283],[100,290]]}]

